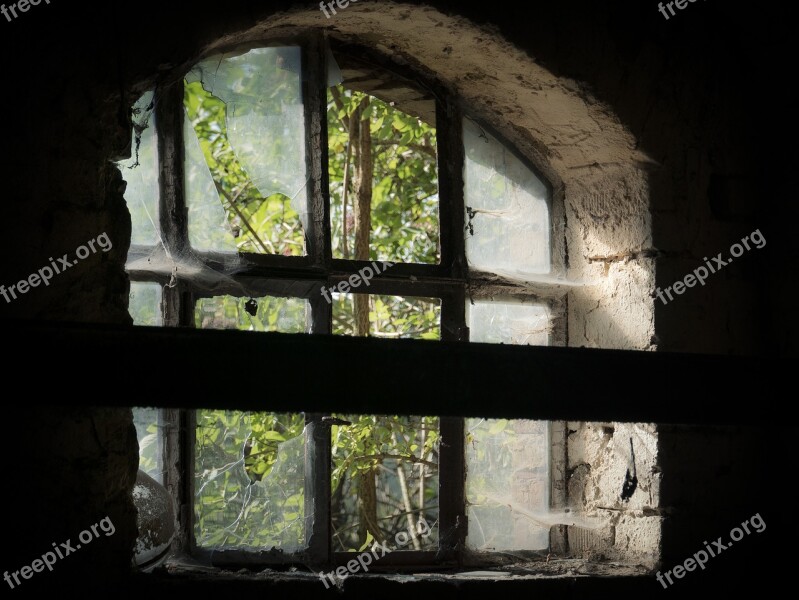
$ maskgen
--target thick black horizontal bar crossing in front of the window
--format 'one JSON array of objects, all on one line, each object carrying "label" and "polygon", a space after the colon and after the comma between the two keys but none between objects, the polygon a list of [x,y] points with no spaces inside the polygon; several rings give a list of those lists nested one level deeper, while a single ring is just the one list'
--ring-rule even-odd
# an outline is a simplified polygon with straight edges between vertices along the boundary
[{"label": "thick black horizontal bar crossing in front of the window", "polygon": [[[274,411],[772,424],[784,401],[768,390],[783,383],[792,389],[795,370],[795,361],[773,357],[40,321],[5,321],[3,334],[7,348],[57,351],[46,381],[58,387],[59,403],[78,405],[130,406],[146,398],[160,407],[259,410],[264,379],[256,373],[263,373]],[[219,374],[223,356],[254,369],[236,394]],[[151,376],[132,376],[130,365],[143,360],[153,366]],[[29,361],[28,353],[12,352],[6,369],[25,372]],[[181,374],[180,393],[158,393],[173,372]],[[124,393],[88,388],[81,373],[124,381]]]}]

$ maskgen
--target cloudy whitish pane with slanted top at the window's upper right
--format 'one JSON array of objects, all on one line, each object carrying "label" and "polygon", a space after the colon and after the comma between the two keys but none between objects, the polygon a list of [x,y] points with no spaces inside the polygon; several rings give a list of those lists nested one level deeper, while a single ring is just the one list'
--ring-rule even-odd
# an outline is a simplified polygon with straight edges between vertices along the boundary
[{"label": "cloudy whitish pane with slanted top at the window's upper right", "polygon": [[514,279],[550,270],[544,183],[474,122],[464,119],[466,257],[469,266]]}]

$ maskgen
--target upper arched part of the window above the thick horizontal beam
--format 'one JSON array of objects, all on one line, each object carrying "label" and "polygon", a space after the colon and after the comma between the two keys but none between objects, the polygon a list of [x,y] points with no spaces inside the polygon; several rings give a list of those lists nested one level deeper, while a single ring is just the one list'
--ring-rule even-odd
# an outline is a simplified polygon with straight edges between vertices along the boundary
[{"label": "upper arched part of the window above the thick horizontal beam", "polygon": [[248,47],[139,100],[134,322],[562,342],[537,289],[558,275],[550,186],[435,82],[380,63]]}]

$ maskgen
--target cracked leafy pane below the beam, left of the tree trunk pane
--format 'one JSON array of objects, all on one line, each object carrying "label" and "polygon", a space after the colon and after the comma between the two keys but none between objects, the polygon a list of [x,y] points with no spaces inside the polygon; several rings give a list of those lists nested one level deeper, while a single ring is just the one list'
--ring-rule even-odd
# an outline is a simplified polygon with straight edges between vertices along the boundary
[{"label": "cracked leafy pane below the beam, left of the tree trunk pane", "polygon": [[200,548],[305,546],[305,419],[198,410],[194,536]]}]

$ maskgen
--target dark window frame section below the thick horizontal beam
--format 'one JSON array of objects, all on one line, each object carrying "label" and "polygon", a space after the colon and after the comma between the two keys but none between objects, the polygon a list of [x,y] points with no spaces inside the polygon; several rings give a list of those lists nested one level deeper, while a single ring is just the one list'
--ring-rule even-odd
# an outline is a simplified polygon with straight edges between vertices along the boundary
[{"label": "dark window frame section below the thick horizontal beam", "polygon": [[[265,407],[268,409],[268,407]],[[284,552],[279,548],[261,551],[242,549],[207,549],[198,547],[194,539],[194,448],[196,442],[196,410],[164,408],[159,411],[160,433],[163,437],[162,461],[164,486],[175,499],[179,532],[175,549],[178,555],[186,554],[193,560],[221,569],[253,568],[310,568],[330,571],[352,560],[352,552],[332,549],[331,528],[331,436],[330,425],[325,422],[330,415],[307,413],[305,415],[305,478],[304,497],[306,547],[298,552]],[[461,567],[487,567],[509,562],[505,551],[473,551],[466,547],[468,517],[466,508],[466,419],[439,417],[439,519],[437,550],[403,550],[382,556],[370,566],[374,572],[394,572],[409,568],[418,571],[455,569]],[[564,421],[547,421],[549,444],[548,504],[550,508],[566,506],[566,432]],[[161,437],[159,436],[159,437]],[[444,473],[447,475],[445,476]],[[314,518],[308,518],[313,511]],[[324,518],[316,518],[323,515]],[[548,550],[514,551],[510,562],[520,558],[535,560],[550,554],[559,554],[566,548],[566,531],[563,526],[550,528]],[[388,545],[388,544],[387,544]],[[394,550],[389,545],[389,548]]]}]

